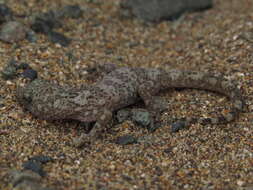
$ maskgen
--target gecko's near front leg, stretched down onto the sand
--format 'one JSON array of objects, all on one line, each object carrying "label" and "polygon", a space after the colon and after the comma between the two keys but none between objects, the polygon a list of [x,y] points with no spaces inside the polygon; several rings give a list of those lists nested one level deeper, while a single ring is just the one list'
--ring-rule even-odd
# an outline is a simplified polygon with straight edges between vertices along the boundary
[{"label": "gecko's near front leg, stretched down onto the sand", "polygon": [[103,109],[99,111],[96,115],[96,122],[92,127],[91,131],[88,134],[82,133],[80,137],[74,139],[74,146],[81,147],[86,143],[91,143],[102,133],[104,128],[108,126],[108,124],[112,120],[112,112],[108,109]]}]

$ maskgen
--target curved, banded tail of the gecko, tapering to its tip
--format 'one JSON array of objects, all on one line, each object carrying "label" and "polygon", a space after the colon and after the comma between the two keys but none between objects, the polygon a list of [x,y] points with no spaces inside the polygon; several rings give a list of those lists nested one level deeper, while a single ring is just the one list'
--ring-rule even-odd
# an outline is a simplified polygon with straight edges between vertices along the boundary
[{"label": "curved, banded tail of the gecko, tapering to its tip", "polygon": [[232,102],[231,110],[225,114],[214,118],[188,118],[186,119],[187,123],[225,124],[234,121],[244,109],[244,100],[240,89],[235,83],[226,79],[221,74],[170,70],[167,71],[166,78],[166,83],[163,85],[167,88],[207,90],[225,95]]}]

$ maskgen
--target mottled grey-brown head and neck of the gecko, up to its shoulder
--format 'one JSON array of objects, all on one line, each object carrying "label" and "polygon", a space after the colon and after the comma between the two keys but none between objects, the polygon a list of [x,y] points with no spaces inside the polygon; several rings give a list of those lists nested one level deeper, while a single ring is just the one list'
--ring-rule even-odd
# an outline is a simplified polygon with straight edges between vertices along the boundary
[{"label": "mottled grey-brown head and neck of the gecko, up to its shoulder", "polygon": [[105,105],[95,89],[68,89],[36,79],[17,89],[17,99],[32,115],[47,120],[94,121]]}]

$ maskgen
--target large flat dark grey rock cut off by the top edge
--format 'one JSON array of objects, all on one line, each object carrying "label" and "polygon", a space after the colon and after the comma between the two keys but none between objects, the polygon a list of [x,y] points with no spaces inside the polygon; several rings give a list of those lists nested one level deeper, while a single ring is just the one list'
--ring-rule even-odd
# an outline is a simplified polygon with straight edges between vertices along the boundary
[{"label": "large flat dark grey rock cut off by the top edge", "polygon": [[202,10],[212,7],[212,0],[122,0],[121,7],[126,16],[157,22],[175,19],[186,11]]}]

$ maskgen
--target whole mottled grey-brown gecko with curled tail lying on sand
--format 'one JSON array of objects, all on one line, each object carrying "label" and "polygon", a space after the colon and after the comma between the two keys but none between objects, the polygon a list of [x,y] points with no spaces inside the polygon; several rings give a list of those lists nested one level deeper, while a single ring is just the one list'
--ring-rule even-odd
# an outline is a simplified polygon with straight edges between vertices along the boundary
[{"label": "whole mottled grey-brown gecko with curled tail lying on sand", "polygon": [[25,87],[17,88],[17,100],[32,115],[41,119],[95,122],[89,134],[83,135],[84,139],[96,138],[112,120],[113,112],[139,100],[152,113],[160,113],[167,104],[158,94],[171,88],[208,90],[231,100],[232,108],[226,114],[215,118],[187,118],[189,123],[228,123],[243,110],[240,89],[222,74],[105,65],[101,67],[105,71],[104,76],[94,84],[68,88],[38,78]]}]

